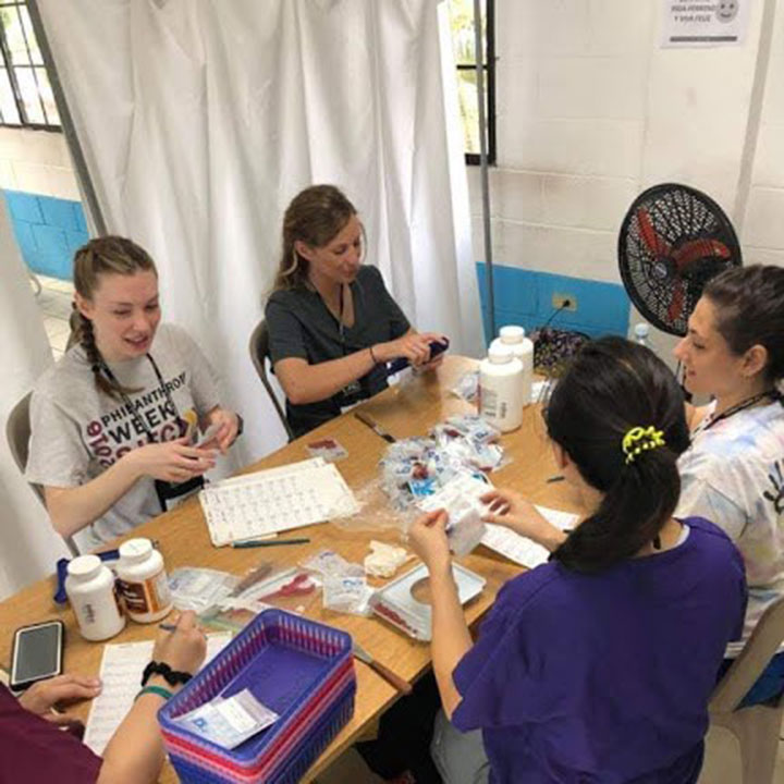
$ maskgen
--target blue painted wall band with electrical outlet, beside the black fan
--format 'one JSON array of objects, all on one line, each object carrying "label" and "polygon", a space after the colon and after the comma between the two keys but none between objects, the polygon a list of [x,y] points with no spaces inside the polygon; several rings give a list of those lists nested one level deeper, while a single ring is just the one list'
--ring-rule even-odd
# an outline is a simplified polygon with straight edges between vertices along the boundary
[{"label": "blue painted wall band with electrical outlet, beside the black fan", "polygon": [[[488,338],[485,274],[485,264],[477,262],[485,336]],[[493,265],[493,289],[497,329],[507,323],[520,324],[528,331],[541,327],[553,315],[553,294],[564,294],[576,298],[577,310],[562,310],[551,321],[553,327],[578,330],[591,338],[603,334],[626,335],[628,332],[629,299],[620,283]]]}]

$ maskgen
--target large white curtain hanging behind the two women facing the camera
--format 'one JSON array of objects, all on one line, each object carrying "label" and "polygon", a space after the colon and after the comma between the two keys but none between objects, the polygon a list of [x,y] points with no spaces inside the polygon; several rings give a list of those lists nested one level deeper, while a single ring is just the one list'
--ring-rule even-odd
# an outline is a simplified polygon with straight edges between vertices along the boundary
[{"label": "large white curtain hanging behind the two women facing the camera", "polygon": [[107,225],[158,261],[164,319],[197,339],[248,422],[241,462],[283,443],[247,342],[283,210],[309,184],[338,184],[357,206],[368,261],[417,328],[479,354],[453,62],[436,0],[38,5]]}]

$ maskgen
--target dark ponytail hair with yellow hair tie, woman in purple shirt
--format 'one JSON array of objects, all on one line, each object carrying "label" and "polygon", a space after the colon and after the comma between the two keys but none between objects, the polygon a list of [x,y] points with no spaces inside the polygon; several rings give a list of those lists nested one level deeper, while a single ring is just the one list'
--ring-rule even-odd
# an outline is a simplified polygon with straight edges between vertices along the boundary
[{"label": "dark ponytail hair with yellow hair tie, woman in purple shirt", "polygon": [[592,341],[553,390],[546,420],[550,438],[604,494],[553,558],[599,572],[654,541],[677,505],[676,461],[689,444],[683,393],[666,365],[623,338]]}]

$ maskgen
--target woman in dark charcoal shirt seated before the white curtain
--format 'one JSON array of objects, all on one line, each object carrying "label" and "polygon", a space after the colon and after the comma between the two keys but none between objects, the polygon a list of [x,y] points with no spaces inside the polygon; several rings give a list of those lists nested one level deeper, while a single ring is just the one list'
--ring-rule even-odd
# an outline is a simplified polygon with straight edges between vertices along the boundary
[{"label": "woman in dark charcoal shirt seated before the white curtain", "polygon": [[364,267],[356,209],[332,185],[306,188],[283,219],[283,249],[266,308],[270,357],[301,436],[387,387],[384,365],[405,358],[433,367],[430,342]]}]

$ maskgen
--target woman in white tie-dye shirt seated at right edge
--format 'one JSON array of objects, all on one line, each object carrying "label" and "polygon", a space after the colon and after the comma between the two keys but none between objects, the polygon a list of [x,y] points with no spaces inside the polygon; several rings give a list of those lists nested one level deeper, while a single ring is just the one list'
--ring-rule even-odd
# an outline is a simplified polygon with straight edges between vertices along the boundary
[{"label": "woman in white tie-dye shirt seated at right edge", "polygon": [[[689,392],[693,445],[679,458],[676,514],[721,526],[746,564],[749,601],[743,649],[764,610],[784,596],[784,268],[735,268],[714,278],[675,348]],[[784,690],[784,648],[747,695],[747,703]]]}]

